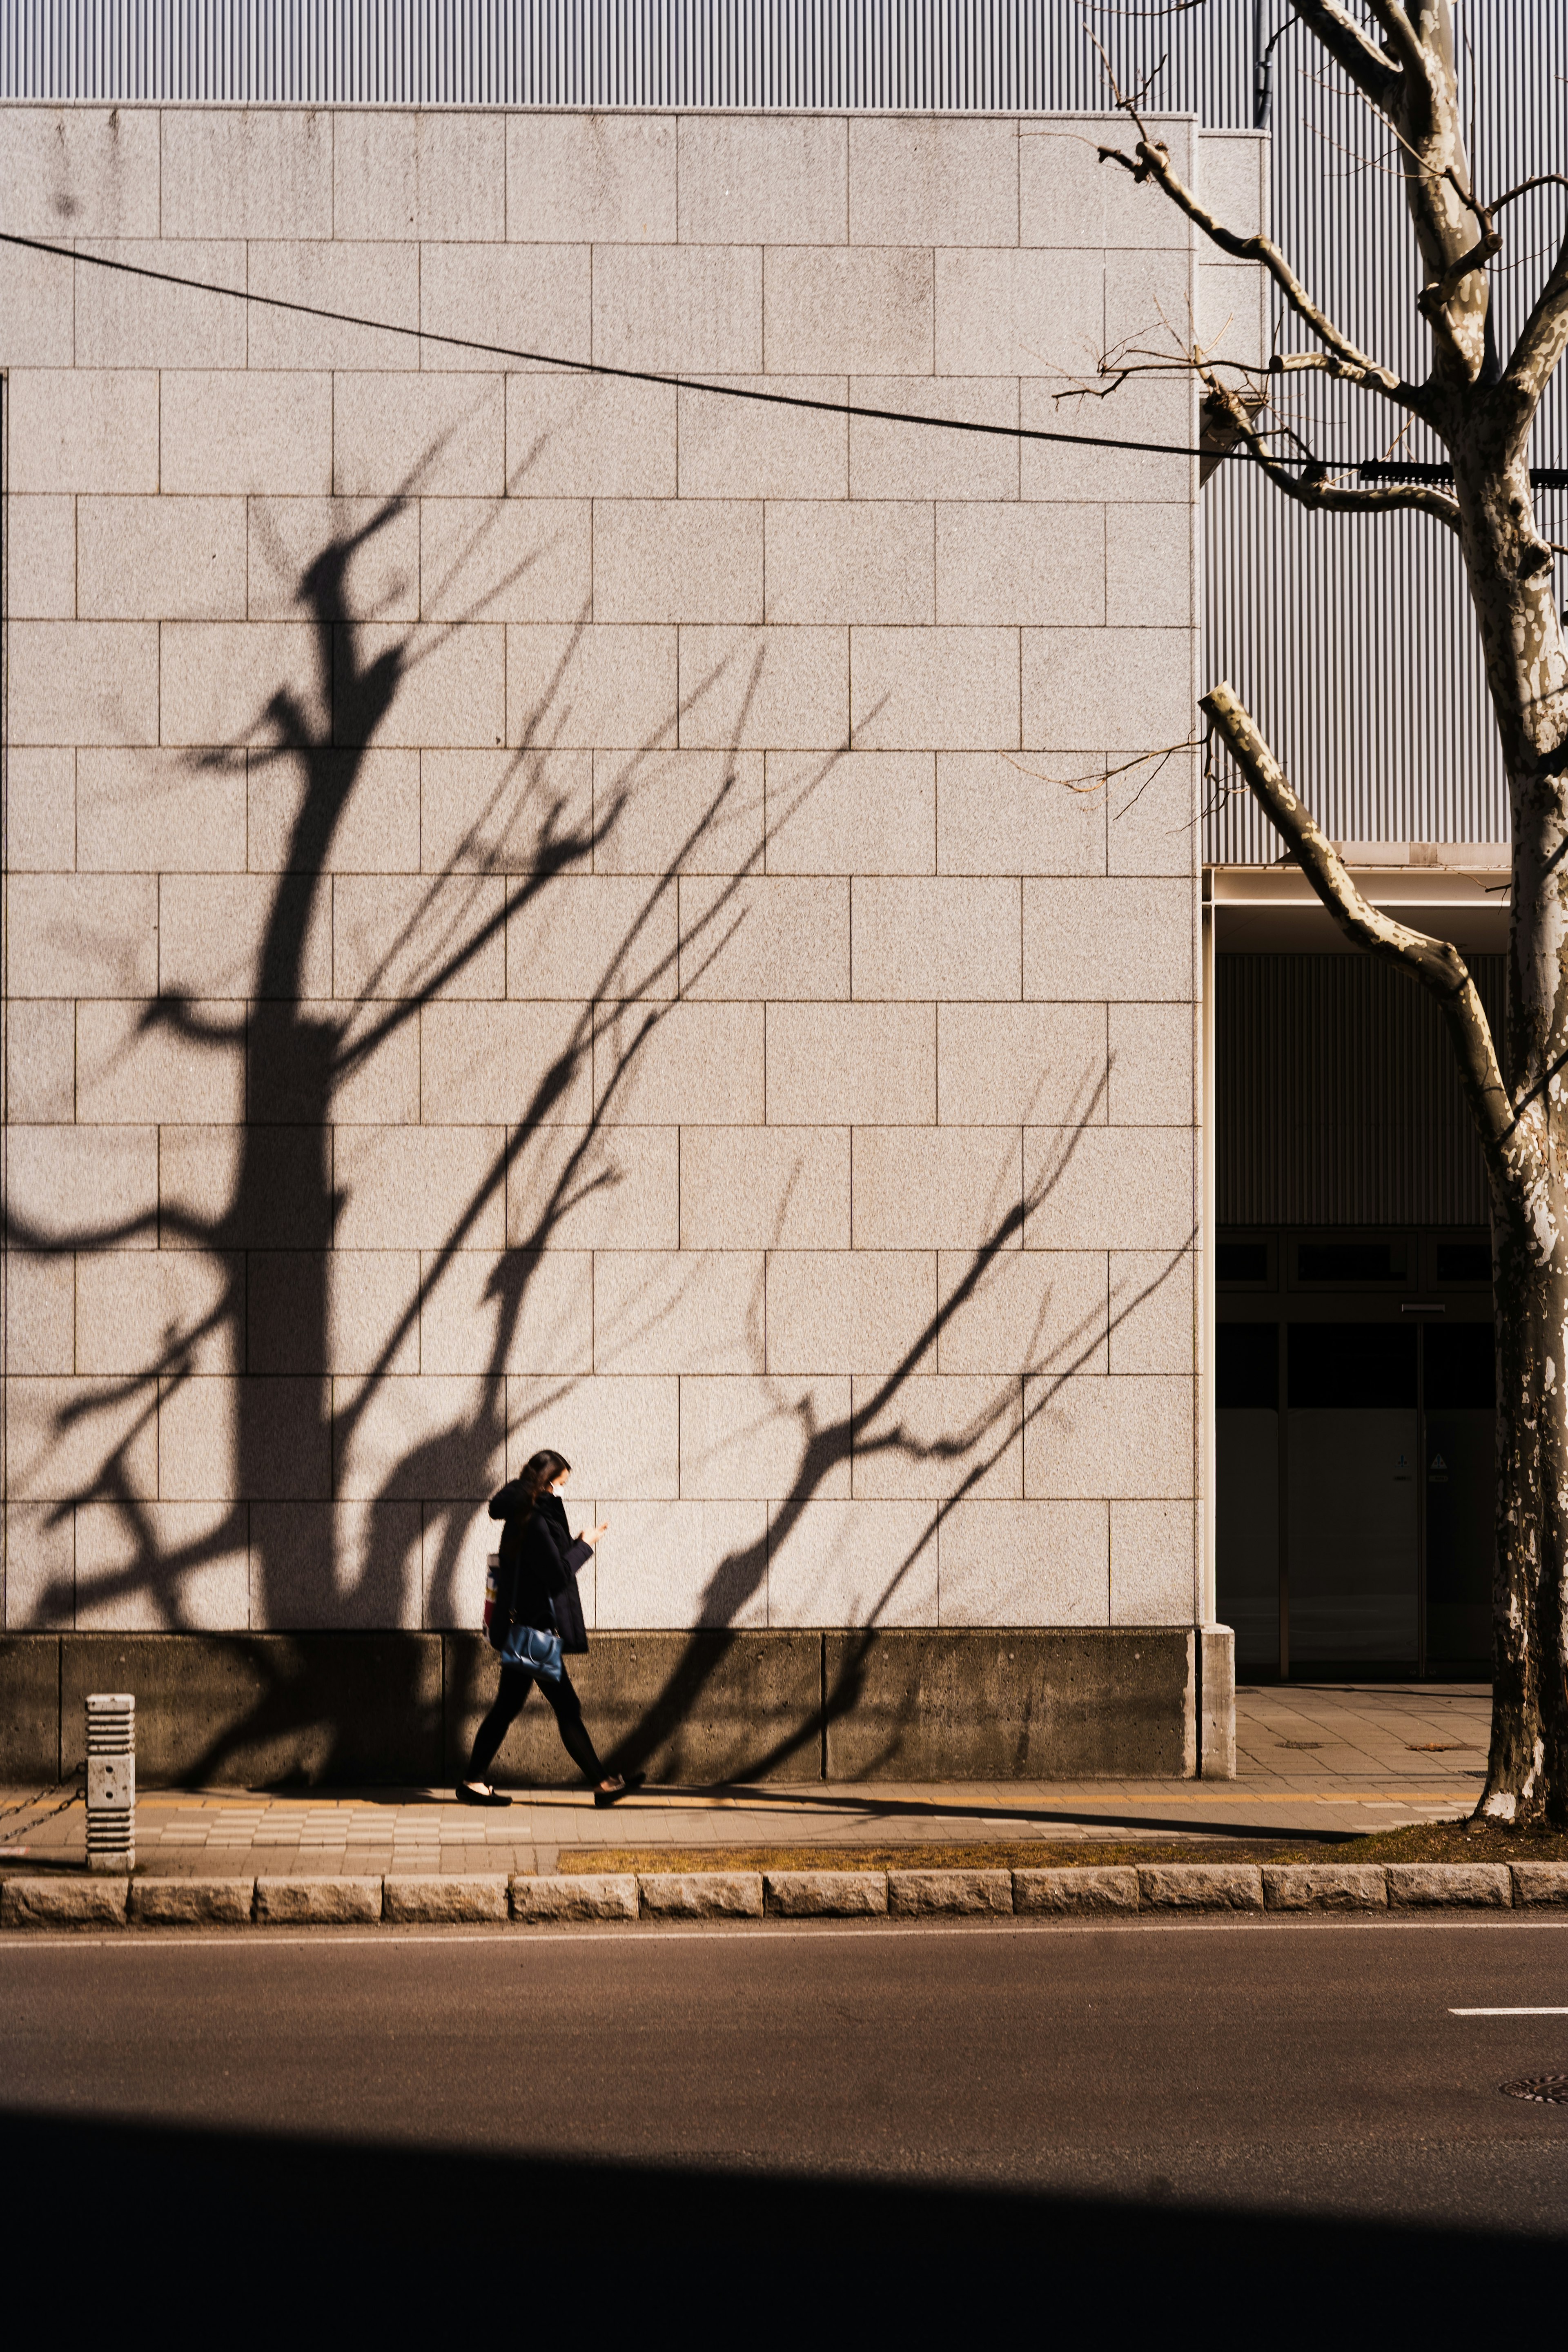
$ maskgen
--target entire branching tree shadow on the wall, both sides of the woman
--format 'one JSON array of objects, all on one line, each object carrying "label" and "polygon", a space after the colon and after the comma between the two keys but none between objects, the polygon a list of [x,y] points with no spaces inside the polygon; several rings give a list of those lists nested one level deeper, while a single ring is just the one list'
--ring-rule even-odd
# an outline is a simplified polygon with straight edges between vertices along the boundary
[{"label": "entire branching tree shadow on the wall, both sides of the woman", "polygon": [[[169,1324],[146,1367],[94,1383],[89,1392],[78,1383],[56,1414],[56,1449],[80,1451],[89,1442],[94,1470],[63,1496],[56,1482],[52,1522],[63,1524],[92,1510],[101,1559],[82,1559],[82,1522],[75,1517],[75,1571],[45,1583],[42,1623],[71,1625],[82,1616],[87,1630],[106,1632],[197,1630],[205,1616],[200,1578],[235,1557],[244,1562],[249,1623],[256,1630],[364,1635],[390,1625],[456,1623],[463,1564],[473,1566],[473,1548],[484,1536],[482,1496],[503,1475],[508,1371],[520,1359],[527,1317],[548,1312],[541,1296],[550,1247],[559,1249],[562,1232],[585,1204],[614,1197],[623,1181],[614,1157],[614,1124],[654,1040],[745,924],[743,891],[762,870],[766,840],[802,811],[809,814],[811,795],[839,757],[823,755],[785,807],[766,809],[766,826],[743,858],[705,861],[705,844],[731,821],[741,793],[736,753],[764,663],[762,652],[750,659],[724,656],[682,694],[679,708],[663,717],[642,748],[618,760],[604,804],[595,788],[583,809],[559,786],[552,764],[562,736],[571,731],[581,623],[529,713],[522,741],[503,755],[489,800],[442,868],[411,877],[407,910],[378,941],[353,1000],[334,995],[324,1002],[308,995],[334,854],[364,790],[367,757],[411,673],[440,649],[430,633],[423,640],[409,633],[369,654],[367,616],[355,612],[350,597],[355,560],[397,520],[414,489],[411,482],[357,529],[331,536],[299,576],[299,602],[313,626],[315,694],[277,687],[242,741],[200,755],[212,769],[237,764],[247,781],[261,779],[268,790],[296,795],[261,924],[247,1009],[230,1018],[195,995],[167,993],[143,1016],[143,1035],[160,1033],[197,1058],[242,1058],[244,1120],[233,1131],[233,1164],[216,1188],[172,1181],[155,1211],[118,1223],[59,1230],[38,1214],[12,1214],[7,1225],[7,1247],[110,1251],[155,1244],[195,1258],[212,1277],[202,1305]],[[482,619],[496,593],[463,614],[463,621]],[[604,946],[592,995],[571,1007],[552,1047],[534,1068],[487,1073],[487,1087],[498,1096],[498,1115],[489,1124],[501,1129],[501,1143],[482,1155],[477,1176],[440,1232],[421,1235],[418,1275],[381,1315],[357,1369],[343,1374],[336,1369],[341,1334],[334,1329],[334,1254],[353,1197],[339,1157],[346,1091],[364,1082],[369,1070],[386,1068],[378,1056],[388,1056],[425,1009],[463,993],[480,960],[498,946],[520,913],[614,842],[646,762],[672,741],[689,713],[719,696],[733,703],[736,717],[715,788],[698,802],[663,870],[639,887],[618,934]],[[498,826],[498,818],[505,821]],[[527,821],[531,833],[522,861],[491,844],[496,828],[505,842],[517,821]],[[729,866],[729,873],[703,894],[693,920],[665,924],[663,913],[682,870],[701,870],[705,863]],[[496,877],[503,880],[498,896]],[[661,946],[665,934],[672,946]],[[567,1124],[564,1112],[581,1094],[588,1096],[588,1110]],[[1105,1073],[1088,1073],[1060,1164],[1030,1200],[999,1216],[966,1277],[863,1406],[818,1425],[809,1399],[783,1404],[799,1430],[799,1470],[790,1494],[773,1508],[764,1541],[731,1552],[710,1576],[701,1609],[705,1630],[684,1644],[658,1698],[621,1740],[618,1762],[646,1759],[701,1708],[719,1658],[710,1632],[733,1630],[755,1609],[769,1557],[778,1557],[797,1536],[811,1501],[835,1491],[835,1482],[846,1482],[853,1461],[898,1456],[912,1465],[954,1465],[947,1503],[929,1512],[933,1534],[940,1510],[983,1486],[1006,1446],[1023,1444],[1023,1428],[1048,1406],[1053,1383],[1070,1378],[1105,1343],[1107,1317],[1081,1319],[1044,1350],[1041,1388],[1027,1406],[1020,1390],[1016,1402],[1001,1397],[964,1430],[933,1437],[903,1411],[907,1383],[931,1362],[943,1329],[980,1291],[994,1261],[1018,1244],[1025,1216],[1060,1181],[1103,1096]],[[421,1129],[388,1129],[390,1150],[400,1148],[397,1134],[416,1138]],[[209,1200],[214,1190],[216,1197]],[[496,1216],[505,1232],[501,1249],[484,1242]],[[475,1322],[484,1322],[484,1338],[477,1369],[465,1364],[461,1404],[407,1439],[397,1437],[393,1411],[388,1439],[388,1409],[407,1350],[421,1334],[421,1317],[442,1284],[458,1277],[468,1258],[480,1256],[489,1261],[487,1277],[470,1310]],[[1168,1279],[1182,1256],[1185,1251],[1175,1251],[1150,1289]],[[1124,1312],[1138,1303],[1128,1301]],[[654,1317],[663,1310],[668,1308],[649,1305]],[[214,1367],[233,1367],[226,1390],[233,1397],[233,1428],[214,1430],[212,1446],[216,1454],[233,1446],[233,1475],[226,1484],[237,1501],[197,1505],[200,1524],[193,1531],[190,1508],[169,1510],[148,1491],[146,1449],[181,1411],[195,1414],[202,1406],[219,1385],[205,1378]],[[562,1374],[555,1388],[552,1376],[534,1378],[536,1409],[545,1414],[550,1397],[569,1395],[576,1378]],[[430,1395],[423,1381],[418,1390]],[[853,1708],[872,1632],[889,1613],[898,1613],[898,1595],[924,1543],[926,1536],[872,1602],[863,1637],[846,1646],[835,1689],[823,1698],[820,1719],[778,1740],[762,1733],[748,1771],[762,1776],[788,1766],[820,1738],[830,1719]],[[336,1653],[343,1686],[331,1691],[287,1644],[244,1635],[228,1635],[226,1642],[242,1663],[244,1698],[237,1719],[200,1748],[186,1736],[181,1778],[216,1780],[240,1759],[252,1776],[261,1764],[261,1776],[268,1778],[374,1778],[374,1738],[357,1719],[364,1708],[374,1712],[378,1736],[390,1733],[400,1757],[425,1759],[428,1776],[440,1771],[451,1693],[442,1691],[440,1670],[421,1644],[388,1639],[374,1644],[369,1656],[357,1644],[343,1646]],[[277,1759],[275,1771],[268,1759]],[[425,1773],[404,1764],[397,1776]]]}]

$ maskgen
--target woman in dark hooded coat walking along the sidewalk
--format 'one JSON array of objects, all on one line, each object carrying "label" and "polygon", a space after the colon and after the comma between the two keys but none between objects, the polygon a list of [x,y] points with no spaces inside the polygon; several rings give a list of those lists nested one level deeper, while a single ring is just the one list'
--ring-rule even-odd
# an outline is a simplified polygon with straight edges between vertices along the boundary
[{"label": "woman in dark hooded coat walking along the sidewalk", "polygon": [[642,1783],[642,1773],[625,1778],[604,1771],[588,1738],[583,1705],[567,1675],[567,1653],[578,1656],[588,1649],[576,1576],[609,1526],[609,1519],[602,1519],[576,1543],[571,1541],[562,1503],[562,1486],[569,1477],[571,1463],[545,1449],[522,1465],[520,1477],[508,1479],[491,1496],[491,1519],[505,1522],[496,1604],[487,1625],[491,1646],[501,1651],[501,1689],[475,1733],[468,1778],[458,1780],[458,1804],[512,1802],[505,1790],[491,1788],[487,1773],[534,1684],[555,1710],[555,1729],[567,1755],[592,1780],[595,1804],[614,1804]]}]

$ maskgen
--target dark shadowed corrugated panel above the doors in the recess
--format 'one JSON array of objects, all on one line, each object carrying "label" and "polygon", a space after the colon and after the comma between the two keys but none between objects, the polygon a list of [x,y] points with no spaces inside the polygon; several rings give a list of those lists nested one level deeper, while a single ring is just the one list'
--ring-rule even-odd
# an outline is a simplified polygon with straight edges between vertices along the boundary
[{"label": "dark shadowed corrugated panel above the doors in the recess", "polygon": [[[1495,1035],[1502,964],[1469,960]],[[1488,1218],[1432,997],[1371,957],[1215,957],[1215,1138],[1220,1225]]]}]

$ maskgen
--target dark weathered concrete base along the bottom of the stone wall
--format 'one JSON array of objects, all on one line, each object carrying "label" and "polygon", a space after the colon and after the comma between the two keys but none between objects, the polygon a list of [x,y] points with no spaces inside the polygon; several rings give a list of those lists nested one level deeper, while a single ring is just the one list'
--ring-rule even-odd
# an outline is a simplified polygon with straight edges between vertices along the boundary
[{"label": "dark weathered concrete base along the bottom of the stone wall", "polygon": [[[1234,1769],[1215,1632],[609,1632],[571,1679],[654,1783],[1190,1778]],[[0,1780],[68,1773],[89,1691],[134,1693],[141,1788],[440,1788],[496,1663],[463,1632],[0,1635]],[[538,1700],[496,1778],[574,1783]]]}]

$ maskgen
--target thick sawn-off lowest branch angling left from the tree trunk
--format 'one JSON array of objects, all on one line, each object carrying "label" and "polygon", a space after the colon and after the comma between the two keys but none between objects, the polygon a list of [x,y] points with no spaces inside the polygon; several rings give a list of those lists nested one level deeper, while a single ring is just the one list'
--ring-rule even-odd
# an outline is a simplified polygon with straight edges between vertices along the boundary
[{"label": "thick sawn-off lowest branch angling left from the tree trunk", "polygon": [[1385,964],[1399,964],[1436,997],[1460,1063],[1460,1084],[1481,1136],[1488,1174],[1500,1188],[1514,1190],[1523,1143],[1497,1068],[1490,1023],[1465,957],[1450,941],[1427,938],[1425,931],[1413,931],[1368,906],[1349,880],[1340,851],[1286,783],[1284,769],[1229,684],[1211,687],[1199,708],[1345,936]]}]

